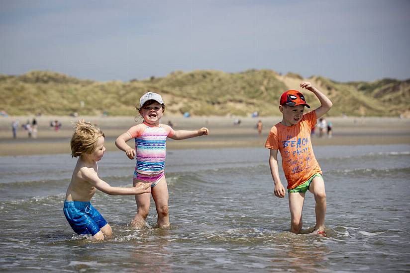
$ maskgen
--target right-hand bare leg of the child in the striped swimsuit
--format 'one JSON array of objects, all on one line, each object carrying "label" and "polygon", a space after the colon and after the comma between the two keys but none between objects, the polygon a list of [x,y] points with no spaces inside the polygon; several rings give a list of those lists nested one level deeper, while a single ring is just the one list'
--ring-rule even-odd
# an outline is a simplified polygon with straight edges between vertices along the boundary
[{"label": "right-hand bare leg of the child in the striped swimsuit", "polygon": [[168,186],[165,176],[161,178],[161,181],[158,182],[151,191],[158,213],[158,227],[164,228],[170,226],[168,214]]}]

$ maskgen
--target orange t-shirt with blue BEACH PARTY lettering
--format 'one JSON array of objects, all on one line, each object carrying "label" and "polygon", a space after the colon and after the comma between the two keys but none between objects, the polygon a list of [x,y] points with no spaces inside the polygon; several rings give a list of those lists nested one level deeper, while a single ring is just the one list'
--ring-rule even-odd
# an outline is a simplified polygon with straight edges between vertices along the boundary
[{"label": "orange t-shirt with blue BEACH PARTY lettering", "polygon": [[315,124],[316,112],[311,111],[297,125],[276,124],[266,139],[266,148],[281,152],[288,189],[298,187],[316,173],[322,174],[310,142],[310,131]]}]

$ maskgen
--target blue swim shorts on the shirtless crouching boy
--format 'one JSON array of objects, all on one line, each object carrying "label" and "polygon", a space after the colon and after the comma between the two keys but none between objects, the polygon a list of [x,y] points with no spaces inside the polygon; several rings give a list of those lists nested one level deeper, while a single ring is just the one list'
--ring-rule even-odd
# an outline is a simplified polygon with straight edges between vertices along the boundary
[{"label": "blue swim shorts on the shirtless crouching boy", "polygon": [[90,202],[64,201],[64,215],[77,234],[96,235],[107,224]]}]

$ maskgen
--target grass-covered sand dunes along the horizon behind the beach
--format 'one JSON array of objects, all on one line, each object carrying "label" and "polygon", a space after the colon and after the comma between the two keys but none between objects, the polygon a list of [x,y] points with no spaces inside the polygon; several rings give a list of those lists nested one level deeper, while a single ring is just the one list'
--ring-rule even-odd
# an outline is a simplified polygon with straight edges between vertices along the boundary
[{"label": "grass-covered sand dunes along the horizon behind the beach", "polygon": [[[288,78],[303,80],[288,73]],[[374,82],[340,83],[313,76],[308,79],[333,102],[329,115],[397,116],[409,115],[410,79],[383,79]],[[147,91],[160,93],[166,111],[192,115],[280,115],[279,97],[287,89],[282,77],[272,70],[225,73],[215,70],[175,71],[166,77],[146,80],[96,82],[68,75],[31,71],[19,76],[0,75],[0,110],[9,115],[135,115],[134,107]],[[305,91],[314,109],[319,105]]]}]

